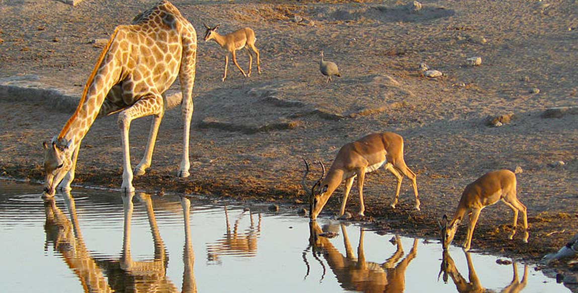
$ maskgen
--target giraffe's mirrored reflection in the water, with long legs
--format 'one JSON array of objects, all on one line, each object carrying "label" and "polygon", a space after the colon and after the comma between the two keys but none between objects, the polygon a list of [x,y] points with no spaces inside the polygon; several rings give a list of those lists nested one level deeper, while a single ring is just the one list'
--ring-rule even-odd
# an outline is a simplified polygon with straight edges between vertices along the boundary
[{"label": "giraffe's mirrored reflection in the water, with long legs", "polygon": [[[91,255],[84,244],[75,201],[69,192],[62,192],[68,209],[66,217],[54,198],[45,199],[46,243],[64,258],[65,263],[79,278],[84,292],[179,292],[175,284],[166,277],[168,255],[158,231],[150,195],[139,193],[138,198],[146,206],[147,217],[154,242],[154,258],[150,261],[133,261],[131,257],[131,218],[134,192],[123,195],[124,236],[123,252],[120,259]],[[181,292],[197,292],[193,274],[194,251],[190,233],[190,200],[181,198],[184,220],[183,281]],[[106,278],[105,278],[106,275]]]}]

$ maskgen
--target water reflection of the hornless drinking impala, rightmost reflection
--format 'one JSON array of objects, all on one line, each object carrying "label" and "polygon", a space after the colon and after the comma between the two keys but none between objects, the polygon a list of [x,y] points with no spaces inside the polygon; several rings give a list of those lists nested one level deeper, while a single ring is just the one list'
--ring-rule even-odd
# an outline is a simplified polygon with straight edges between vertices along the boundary
[{"label": "water reflection of the hornless drinking impala, rightmost reflection", "polygon": [[[449,251],[444,250],[442,265],[439,272],[439,275],[441,275],[443,272],[443,281],[447,283],[448,276],[450,276],[451,280],[455,284],[455,288],[460,293],[491,292],[491,290],[487,290],[480,284],[480,279],[478,279],[476,270],[473,268],[472,257],[470,256],[470,253],[464,251],[464,254],[466,256],[466,262],[468,263],[468,280],[462,277],[460,272],[458,272],[458,269],[455,267],[454,260],[451,258]],[[521,281],[518,280],[518,269],[516,267],[516,262],[512,262],[512,268],[514,270],[512,282],[503,288],[500,292],[521,292],[526,287],[528,281],[528,265],[524,265],[524,276],[522,277]]]}]

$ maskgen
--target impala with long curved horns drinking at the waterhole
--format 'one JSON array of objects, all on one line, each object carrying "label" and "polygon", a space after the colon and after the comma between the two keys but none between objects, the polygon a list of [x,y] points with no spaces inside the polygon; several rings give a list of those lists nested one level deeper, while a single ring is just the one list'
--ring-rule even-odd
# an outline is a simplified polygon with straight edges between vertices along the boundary
[{"label": "impala with long curved horns drinking at the waterhole", "polygon": [[[304,160],[305,161],[305,160]],[[327,176],[325,176],[325,166],[323,166],[323,175],[313,185],[311,190],[306,187],[306,176],[309,173],[309,164],[305,161],[306,171],[303,175],[303,188],[309,194],[310,214],[312,220],[317,218],[317,215],[327,203],[329,197],[333,194],[339,184],[345,180],[345,191],[343,193],[343,202],[341,203],[341,210],[339,216],[342,217],[345,213],[345,204],[351,186],[353,186],[353,179],[357,176],[357,188],[360,192],[360,212],[364,216],[365,206],[363,202],[363,183],[365,173],[375,171],[381,166],[389,170],[395,177],[397,177],[397,188],[395,190],[395,199],[391,203],[391,207],[395,209],[398,202],[399,188],[403,175],[412,180],[413,192],[416,195],[416,209],[420,210],[420,200],[417,196],[416,174],[412,172],[405,165],[403,161],[403,138],[401,135],[393,132],[373,133],[363,138],[347,143],[341,147],[335,161],[329,168]],[[324,177],[325,176],[325,177]]]}]

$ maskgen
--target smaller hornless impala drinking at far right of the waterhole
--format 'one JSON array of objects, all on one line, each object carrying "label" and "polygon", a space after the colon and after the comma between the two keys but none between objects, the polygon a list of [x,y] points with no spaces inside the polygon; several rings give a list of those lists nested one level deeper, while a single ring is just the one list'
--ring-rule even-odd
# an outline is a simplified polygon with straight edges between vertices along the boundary
[{"label": "smaller hornless impala drinking at far right of the waterhole", "polygon": [[486,173],[466,186],[451,221],[448,221],[447,216],[443,215],[442,223],[438,223],[443,249],[447,250],[447,247],[450,246],[452,240],[454,240],[455,231],[457,231],[464,215],[468,213],[468,235],[463,245],[464,250],[468,251],[472,244],[473,229],[476,227],[481,210],[497,203],[499,200],[502,200],[514,212],[513,229],[509,239],[512,240],[516,233],[518,212],[521,212],[524,219],[523,240],[527,243],[528,217],[526,207],[516,197],[516,175],[510,170],[502,169]]}]

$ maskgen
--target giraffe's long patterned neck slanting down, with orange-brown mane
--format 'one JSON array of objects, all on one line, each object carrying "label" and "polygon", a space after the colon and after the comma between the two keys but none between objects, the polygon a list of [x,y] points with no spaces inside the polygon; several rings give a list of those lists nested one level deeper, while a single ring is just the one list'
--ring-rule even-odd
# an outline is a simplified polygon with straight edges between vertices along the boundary
[{"label": "giraffe's long patterned neck slanting down, with orange-brown mane", "polygon": [[97,118],[102,103],[110,88],[118,83],[121,75],[121,64],[118,58],[120,50],[118,46],[113,45],[117,42],[117,30],[111,36],[109,43],[102,50],[101,56],[95,65],[87,83],[75,113],[68,119],[58,139],[66,139],[69,142],[69,148],[75,149],[84,138],[88,129]]}]

